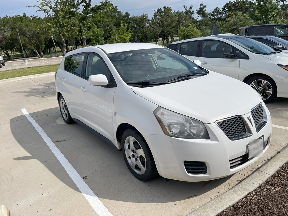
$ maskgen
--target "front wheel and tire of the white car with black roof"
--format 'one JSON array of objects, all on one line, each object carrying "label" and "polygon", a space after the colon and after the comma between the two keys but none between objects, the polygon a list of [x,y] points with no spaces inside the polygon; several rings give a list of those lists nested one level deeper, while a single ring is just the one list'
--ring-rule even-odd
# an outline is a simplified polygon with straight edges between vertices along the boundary
[{"label": "front wheel and tire of the white car with black roof", "polygon": [[277,96],[277,86],[270,77],[259,75],[248,79],[246,83],[260,94],[264,103],[272,102]]}]

